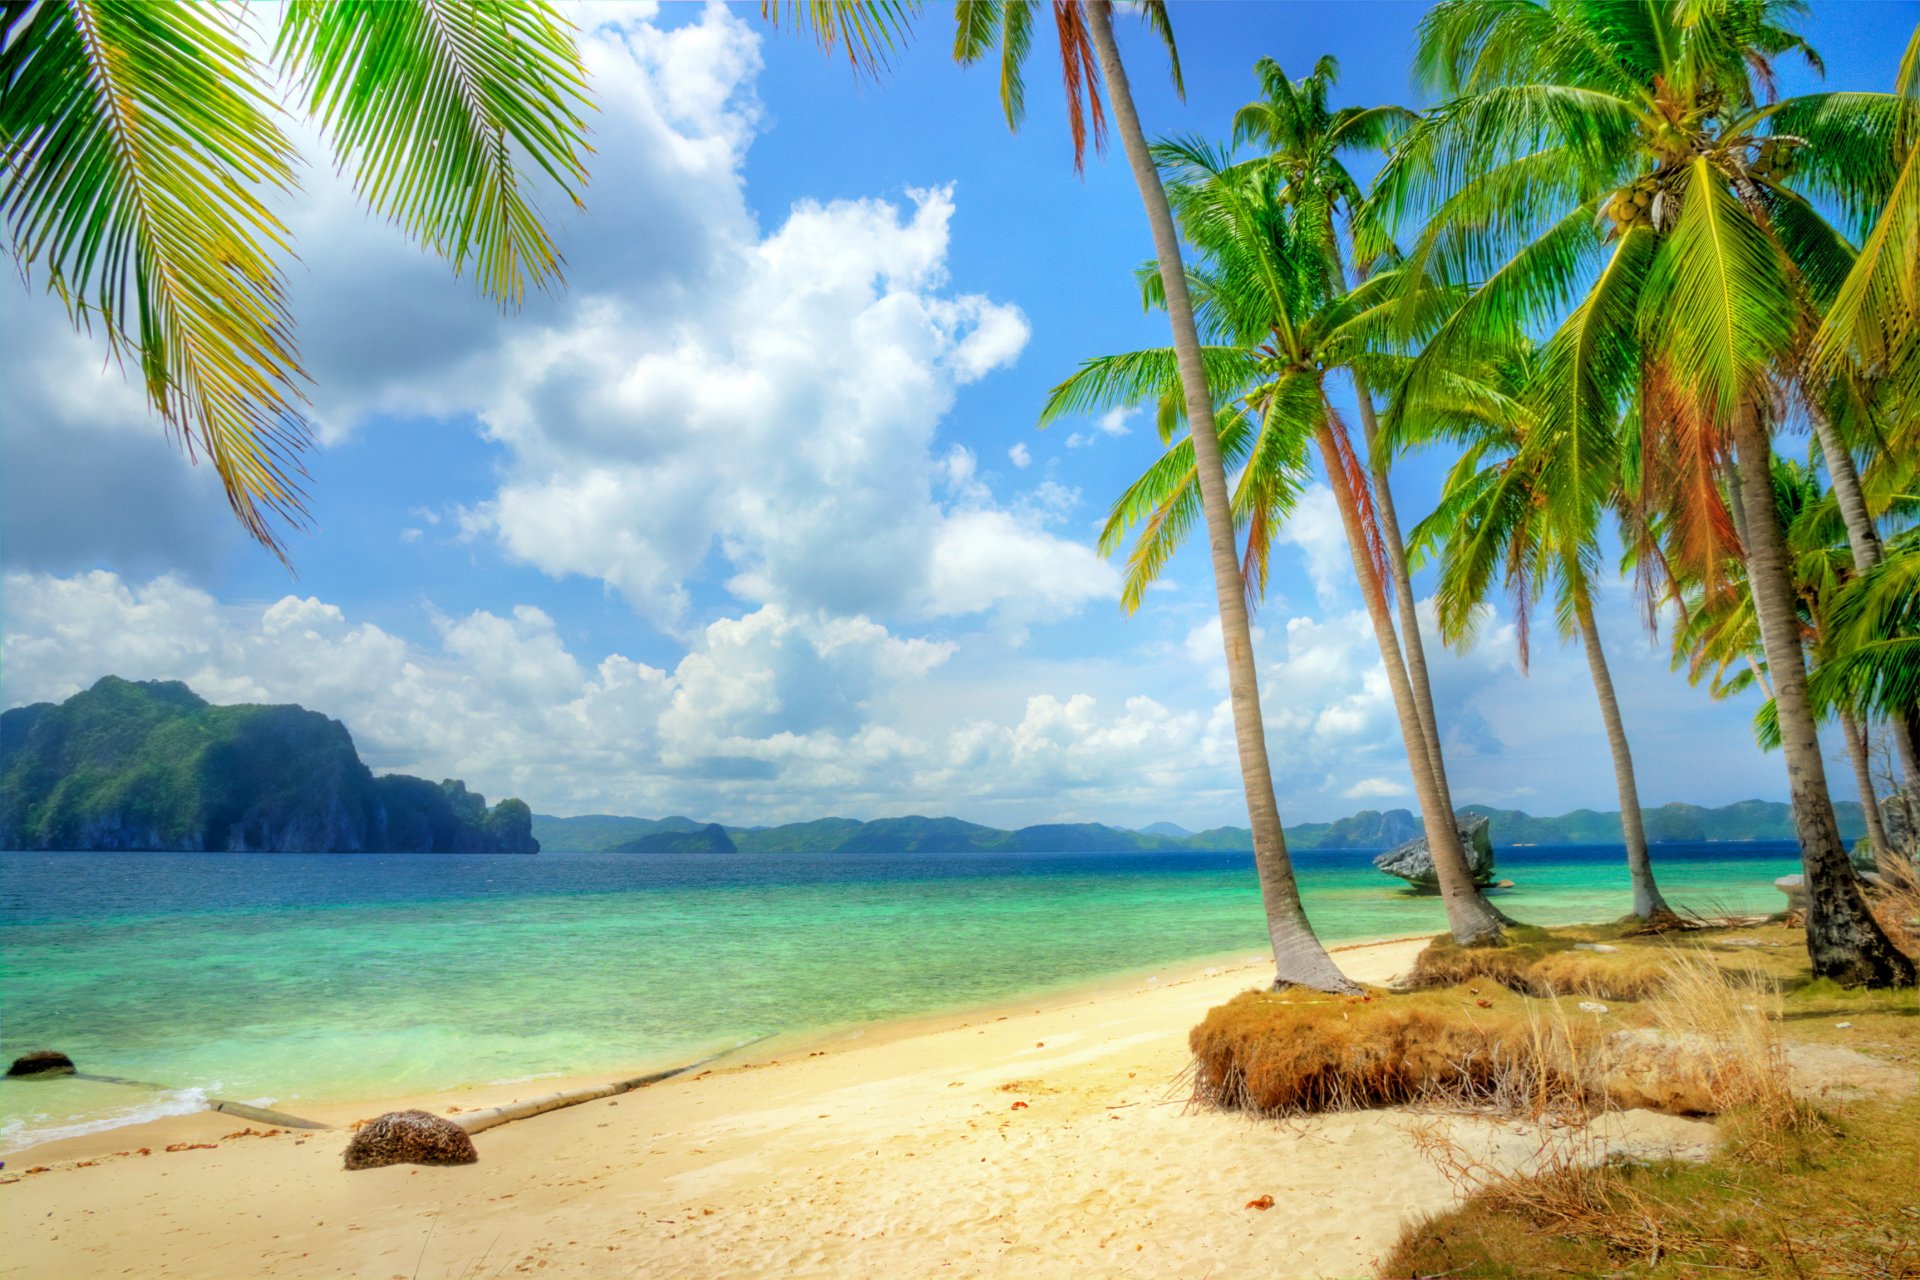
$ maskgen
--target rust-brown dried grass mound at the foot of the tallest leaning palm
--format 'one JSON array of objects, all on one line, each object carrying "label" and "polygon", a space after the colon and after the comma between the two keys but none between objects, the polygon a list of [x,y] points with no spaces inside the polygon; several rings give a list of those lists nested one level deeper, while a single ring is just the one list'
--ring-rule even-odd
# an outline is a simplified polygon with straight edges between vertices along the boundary
[{"label": "rust-brown dried grass mound at the foot of the tallest leaning palm", "polygon": [[1601,1032],[1488,986],[1398,996],[1246,992],[1192,1029],[1194,1102],[1296,1115],[1409,1102],[1584,1105]]}]

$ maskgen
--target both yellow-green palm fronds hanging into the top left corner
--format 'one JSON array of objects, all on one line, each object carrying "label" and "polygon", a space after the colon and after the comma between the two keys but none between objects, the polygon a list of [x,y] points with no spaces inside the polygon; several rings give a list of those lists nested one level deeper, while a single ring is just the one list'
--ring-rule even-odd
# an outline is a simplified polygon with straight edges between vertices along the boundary
[{"label": "both yellow-green palm fronds hanging into the top left corner", "polygon": [[[0,13],[0,209],[10,248],[205,453],[248,533],[303,514],[305,372],[286,311],[294,186],[250,15],[38,0]],[[578,201],[586,77],[541,0],[290,0],[273,61],[367,205],[516,305],[561,280],[528,188]]]}]

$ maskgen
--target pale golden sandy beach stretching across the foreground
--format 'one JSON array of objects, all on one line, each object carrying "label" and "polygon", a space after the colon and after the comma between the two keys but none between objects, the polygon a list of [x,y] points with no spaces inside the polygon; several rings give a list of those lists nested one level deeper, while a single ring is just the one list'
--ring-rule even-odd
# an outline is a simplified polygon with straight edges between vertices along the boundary
[{"label": "pale golden sandy beach stretching across the foreground", "polygon": [[[1423,942],[1336,958],[1384,983]],[[756,1046],[482,1132],[480,1163],[459,1169],[346,1173],[344,1130],[234,1136],[263,1126],[211,1113],[46,1144],[6,1161],[6,1274],[1371,1274],[1407,1221],[1455,1197],[1405,1113],[1256,1123],[1185,1107],[1187,1031],[1269,973],[1240,958]],[[344,1126],[555,1086],[307,1111]],[[1503,1159],[1534,1144],[1523,1126],[1453,1125]],[[1711,1144],[1705,1123],[1634,1125],[1642,1148]],[[1263,1196],[1273,1209],[1246,1207]]]}]

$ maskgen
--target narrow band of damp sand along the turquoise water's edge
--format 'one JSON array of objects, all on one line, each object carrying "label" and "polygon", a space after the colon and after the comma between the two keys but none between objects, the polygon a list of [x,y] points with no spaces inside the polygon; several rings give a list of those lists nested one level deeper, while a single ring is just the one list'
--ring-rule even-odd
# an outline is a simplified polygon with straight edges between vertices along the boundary
[{"label": "narrow band of damp sand along the turquoise water's edge", "polygon": [[[1382,938],[1361,938],[1352,942],[1334,942],[1327,950],[1334,956],[1346,952],[1365,952],[1380,946],[1396,946],[1421,942],[1425,944],[1432,935],[1394,935]],[[714,1044],[720,1052],[720,1059],[701,1071],[701,1075],[716,1073],[741,1073],[755,1071],[768,1065],[778,1065],[781,1059],[793,1059],[797,1055],[828,1055],[835,1052],[845,1052],[852,1048],[879,1048],[895,1044],[899,1040],[937,1034],[941,1031],[956,1027],[973,1027],[981,1021],[993,1021],[996,1017],[1014,1013],[1046,1013],[1058,1011],[1062,1007],[1071,1007],[1085,1002],[1098,1002],[1123,994],[1127,990],[1152,990],[1154,986],[1181,986],[1198,979],[1223,977],[1229,973],[1248,973],[1254,975],[1261,967],[1271,967],[1271,956],[1248,956],[1246,948],[1235,948],[1231,952],[1213,952],[1208,956],[1196,956],[1165,965],[1139,965],[1117,973],[1108,973],[1094,979],[1069,981],[1066,984],[1050,984],[1029,988],[1027,992],[1004,996],[987,1002],[966,1004],[947,1009],[929,1009],[924,1013],[906,1013],[900,1017],[887,1017],[874,1023],[837,1023],[828,1027],[803,1027],[793,1031],[780,1031],[762,1040],[747,1040],[732,1050],[724,1044]],[[751,1052],[747,1052],[751,1050]],[[745,1052],[745,1054],[743,1054]],[[743,1055],[741,1055],[743,1054]],[[286,1115],[296,1115],[300,1119],[321,1121],[332,1128],[344,1128],[359,1119],[371,1119],[384,1111],[401,1111],[409,1107],[420,1107],[434,1113],[447,1113],[449,1107],[459,1107],[461,1111],[474,1111],[480,1107],[493,1107],[507,1102],[515,1102],[524,1096],[549,1094],[555,1090],[584,1088],[591,1084],[605,1084],[611,1079],[622,1079],[639,1075],[645,1071],[664,1071],[682,1065],[680,1061],[639,1061],[622,1063],[618,1067],[607,1067],[599,1071],[566,1071],[566,1073],[541,1073],[530,1077],[516,1077],[507,1080],[474,1080],[449,1084],[444,1088],[417,1090],[417,1092],[392,1092],[374,1096],[349,1096],[349,1098],[303,1098],[300,1094],[288,1094],[286,1098],[275,1098],[261,1102],[257,1098],[234,1098],[232,1102],[250,1102],[273,1111],[282,1111]],[[84,1063],[81,1063],[84,1071]],[[25,1084],[31,1088],[33,1084]],[[205,1092],[200,1086],[182,1086],[175,1092]],[[136,1150],[142,1146],[165,1148],[173,1142],[205,1140],[207,1123],[211,1126],[225,1126],[225,1130],[246,1128],[248,1121],[202,1109],[186,1111],[175,1115],[157,1115],[150,1119],[134,1119],[123,1125],[106,1125],[102,1128],[92,1128],[83,1134],[67,1134],[58,1138],[46,1138],[38,1142],[29,1142],[15,1148],[0,1150],[0,1165],[6,1173],[13,1169],[27,1169],[33,1165],[44,1165],[50,1161],[77,1161],[102,1155],[113,1155],[123,1150]],[[255,1125],[259,1128],[261,1125]],[[315,1130],[326,1132],[326,1130]]]}]

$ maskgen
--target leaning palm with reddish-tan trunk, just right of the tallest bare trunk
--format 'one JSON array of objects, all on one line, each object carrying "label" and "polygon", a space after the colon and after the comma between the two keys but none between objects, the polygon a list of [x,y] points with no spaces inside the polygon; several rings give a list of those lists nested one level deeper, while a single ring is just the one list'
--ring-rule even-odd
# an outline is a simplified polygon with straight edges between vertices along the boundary
[{"label": "leaning palm with reddish-tan trunk, just right of the tallest bare trunk", "polygon": [[[1394,697],[1448,925],[1461,942],[1498,936],[1503,917],[1475,887],[1453,814],[1442,800],[1434,771],[1425,768],[1430,756],[1382,585],[1386,555],[1373,495],[1325,388],[1327,370],[1369,359],[1369,340],[1380,326],[1380,307],[1371,303],[1390,294],[1390,276],[1346,290],[1329,271],[1313,211],[1281,198],[1273,167],[1235,165],[1225,154],[1196,142],[1167,142],[1158,154],[1175,177],[1171,198],[1187,238],[1202,253],[1190,282],[1215,340],[1202,349],[1212,393],[1235,407],[1236,418],[1258,422],[1244,445],[1248,462],[1235,495],[1248,524],[1244,583],[1235,585],[1258,593],[1265,581],[1271,533],[1292,495],[1294,461],[1304,443],[1313,441],[1340,510],[1354,576]],[[1158,290],[1148,296],[1150,301],[1160,299]],[[1165,349],[1087,361],[1054,388],[1043,420],[1164,395],[1171,365]],[[1162,416],[1167,418],[1165,413]],[[1181,462],[1188,457],[1183,451]],[[1162,461],[1114,507],[1102,533],[1106,549],[1114,549],[1144,518],[1142,543],[1129,562],[1129,604],[1139,603],[1144,578],[1158,572],[1169,541],[1190,524],[1190,518],[1181,518],[1181,507],[1190,503],[1190,474]]]}]

